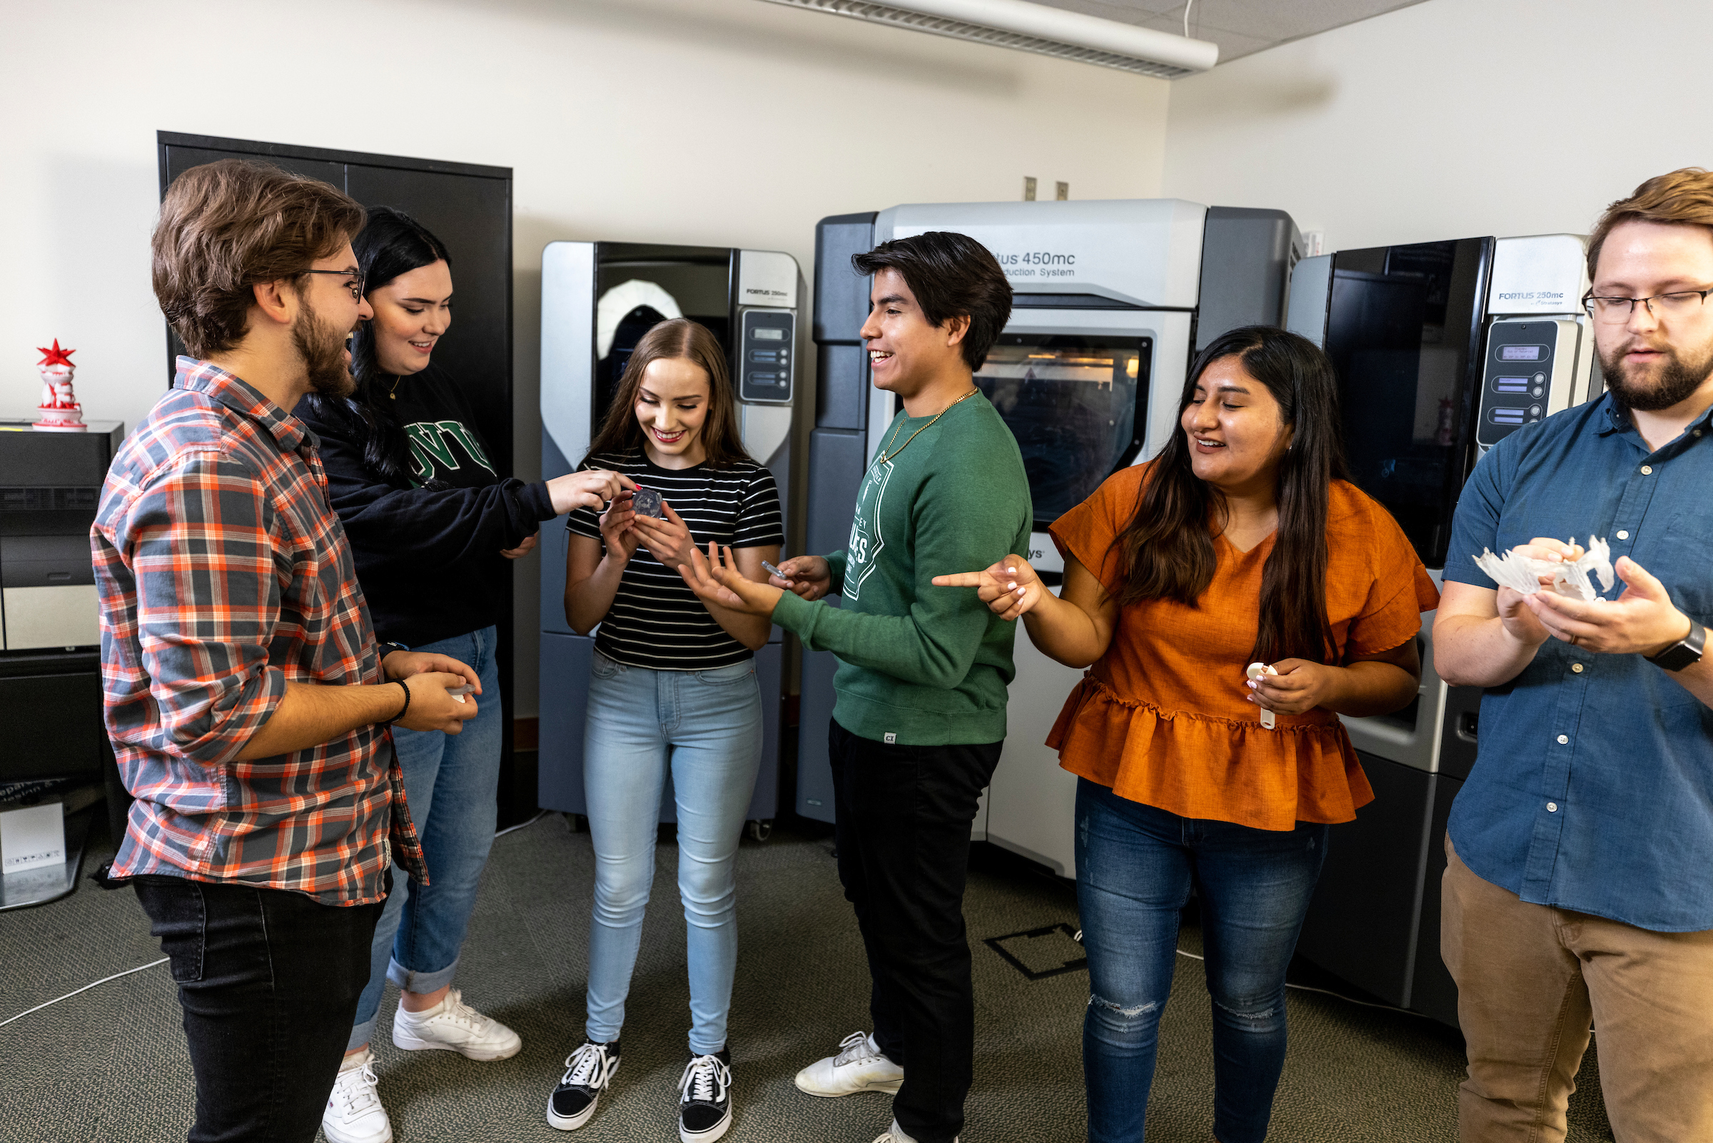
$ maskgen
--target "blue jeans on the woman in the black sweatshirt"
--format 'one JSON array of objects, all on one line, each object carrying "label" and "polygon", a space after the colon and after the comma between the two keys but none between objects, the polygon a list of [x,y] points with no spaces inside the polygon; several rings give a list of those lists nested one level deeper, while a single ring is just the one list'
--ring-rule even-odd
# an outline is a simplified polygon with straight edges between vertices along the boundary
[{"label": "blue jeans on the woman in the black sweatshirt", "polygon": [[481,679],[481,694],[475,696],[476,716],[461,733],[392,728],[404,771],[404,799],[428,862],[428,884],[413,886],[404,876],[392,879],[370,946],[368,987],[356,1002],[356,1026],[346,1050],[368,1044],[373,1035],[387,980],[411,992],[452,984],[498,817],[505,711],[500,709],[500,668],[493,660],[497,648],[493,627],[411,648],[469,663]]}]

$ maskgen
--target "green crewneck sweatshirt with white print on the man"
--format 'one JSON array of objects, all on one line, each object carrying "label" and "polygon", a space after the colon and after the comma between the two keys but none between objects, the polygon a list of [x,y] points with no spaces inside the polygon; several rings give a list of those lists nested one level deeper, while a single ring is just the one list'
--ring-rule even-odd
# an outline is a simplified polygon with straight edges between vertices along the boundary
[{"label": "green crewneck sweatshirt with white print on the man", "polygon": [[1018,625],[975,588],[930,581],[1028,552],[1030,480],[987,398],[968,398],[925,428],[932,420],[899,413],[880,437],[892,459],[875,454],[850,547],[827,555],[843,607],[788,591],[773,622],[838,656],[833,718],[851,733],[906,745],[999,742]]}]

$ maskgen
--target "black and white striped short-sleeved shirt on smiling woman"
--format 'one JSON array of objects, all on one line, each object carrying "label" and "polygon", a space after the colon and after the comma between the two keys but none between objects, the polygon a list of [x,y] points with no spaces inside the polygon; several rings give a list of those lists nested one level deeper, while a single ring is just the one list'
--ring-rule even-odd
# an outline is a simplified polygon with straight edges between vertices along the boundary
[{"label": "black and white striped short-sleeved shirt on smiling woman", "polygon": [[[646,488],[656,488],[683,518],[695,545],[759,548],[783,545],[779,490],[752,461],[728,468],[660,468],[642,449],[591,456],[582,468],[608,468]],[[579,470],[581,471],[581,470]],[[600,512],[579,507],[565,521],[574,536],[601,538]],[[747,646],[726,634],[683,577],[639,547],[618,579],[613,605],[594,632],[594,649],[627,667],[653,670],[709,670],[752,658]]]}]

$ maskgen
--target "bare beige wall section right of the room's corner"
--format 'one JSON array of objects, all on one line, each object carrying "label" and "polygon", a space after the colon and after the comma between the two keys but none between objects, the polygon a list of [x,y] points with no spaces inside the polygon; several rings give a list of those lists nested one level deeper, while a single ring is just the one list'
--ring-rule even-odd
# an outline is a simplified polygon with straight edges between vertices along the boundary
[{"label": "bare beige wall section right of the room's corner", "polygon": [[1586,233],[1713,166],[1713,5],[1427,0],[1172,86],[1163,192],[1271,206],[1328,250]]}]

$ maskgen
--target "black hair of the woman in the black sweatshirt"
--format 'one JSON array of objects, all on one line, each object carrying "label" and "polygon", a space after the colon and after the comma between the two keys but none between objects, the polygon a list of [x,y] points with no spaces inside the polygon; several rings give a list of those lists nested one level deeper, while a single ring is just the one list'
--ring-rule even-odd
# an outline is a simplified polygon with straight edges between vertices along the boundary
[{"label": "black hair of the woman in the black sweatshirt", "polygon": [[[365,295],[413,269],[435,262],[452,266],[445,245],[427,226],[391,206],[368,207],[368,223],[351,240],[351,250],[363,271]],[[363,440],[365,468],[389,485],[409,487],[409,440],[399,423],[397,403],[389,399],[397,377],[382,370],[375,358],[372,322],[363,322],[351,336],[351,375],[356,377],[356,389],[349,398],[310,394],[303,399],[313,401],[312,408],[320,416]]]}]

